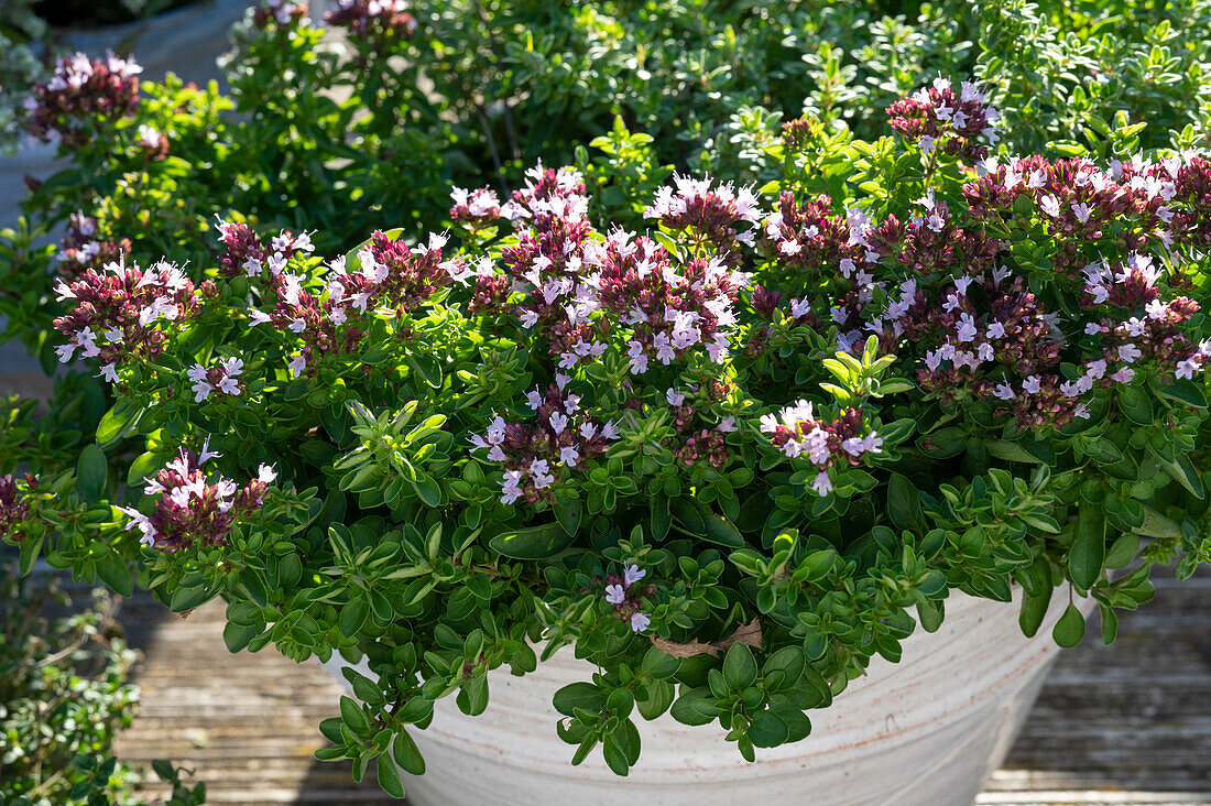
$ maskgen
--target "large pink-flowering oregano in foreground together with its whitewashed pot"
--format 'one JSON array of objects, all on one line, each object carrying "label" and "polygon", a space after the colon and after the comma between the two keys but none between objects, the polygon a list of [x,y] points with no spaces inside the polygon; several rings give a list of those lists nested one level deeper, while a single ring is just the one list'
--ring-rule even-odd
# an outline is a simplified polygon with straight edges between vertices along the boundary
[{"label": "large pink-flowering oregano in foreground together with its whitewashed pot", "polygon": [[[8,539],[342,669],[317,756],[396,795],[427,756],[419,802],[970,798],[1049,656],[1010,628],[1071,646],[1096,606],[1110,641],[1150,565],[1207,559],[1211,162],[1124,159],[1123,118],[1097,159],[988,158],[998,113],[941,79],[888,122],[787,124],[761,193],[539,166],[455,189],[452,234],[320,257],[229,219],[196,282],[85,269],[58,354],[115,402],[74,470],[8,481]],[[828,720],[901,659],[931,714]]]}]

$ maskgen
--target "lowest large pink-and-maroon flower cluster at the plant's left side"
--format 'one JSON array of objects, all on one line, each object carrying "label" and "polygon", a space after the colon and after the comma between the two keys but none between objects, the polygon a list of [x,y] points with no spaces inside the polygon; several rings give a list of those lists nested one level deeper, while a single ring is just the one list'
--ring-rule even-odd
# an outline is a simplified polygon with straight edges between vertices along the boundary
[{"label": "lowest large pink-and-maroon flower cluster at the plant's left side", "polygon": [[202,465],[219,456],[210,452],[208,440],[201,455],[182,448],[154,479],[144,479],[143,493],[157,496],[150,515],[121,508],[130,518],[126,531],[137,528],[143,545],[163,551],[226,545],[231,526],[260,510],[265,488],[277,474],[262,464],[258,476],[243,487],[222,475],[208,478]]}]

